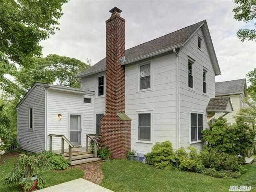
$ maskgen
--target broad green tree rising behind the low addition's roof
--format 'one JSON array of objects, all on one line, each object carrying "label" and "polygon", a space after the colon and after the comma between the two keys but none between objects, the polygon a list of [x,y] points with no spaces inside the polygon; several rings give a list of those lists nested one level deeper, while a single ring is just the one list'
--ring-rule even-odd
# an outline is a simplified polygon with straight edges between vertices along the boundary
[{"label": "broad green tree rising behind the low addition's roof", "polygon": [[[86,62],[90,64],[89,59]],[[30,68],[20,68],[16,80],[25,89],[30,88],[34,82],[57,82],[60,86],[80,88],[80,80],[76,76],[88,69],[88,64],[75,58],[50,54],[45,58],[35,58]]]}]

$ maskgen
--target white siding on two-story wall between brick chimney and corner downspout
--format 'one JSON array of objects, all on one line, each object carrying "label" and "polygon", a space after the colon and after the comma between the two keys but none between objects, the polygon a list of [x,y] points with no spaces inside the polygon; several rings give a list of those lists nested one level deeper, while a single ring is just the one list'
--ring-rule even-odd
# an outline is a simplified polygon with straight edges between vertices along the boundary
[{"label": "white siding on two-story wall between brick chimney and corner downspout", "polygon": [[[138,91],[139,65],[126,66],[125,113],[131,119],[131,148],[140,154],[151,151],[154,142],[170,140],[176,148],[176,56],[150,60],[151,88]],[[152,112],[152,143],[138,142],[138,112]]]}]

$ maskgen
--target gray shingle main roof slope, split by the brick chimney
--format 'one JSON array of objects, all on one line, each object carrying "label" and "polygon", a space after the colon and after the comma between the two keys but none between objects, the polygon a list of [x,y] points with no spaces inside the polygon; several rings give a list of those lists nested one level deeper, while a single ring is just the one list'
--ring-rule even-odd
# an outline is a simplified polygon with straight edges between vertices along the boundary
[{"label": "gray shingle main roof slope, split by the brick chimney", "polygon": [[[180,30],[166,34],[154,40],[137,45],[133,48],[125,50],[126,62],[135,58],[146,56],[148,54],[170,48],[176,45],[184,44],[188,38],[197,30],[206,20],[200,21],[196,24],[187,26]],[[85,72],[78,75],[78,77],[94,74],[105,70],[105,58],[97,62]]]}]

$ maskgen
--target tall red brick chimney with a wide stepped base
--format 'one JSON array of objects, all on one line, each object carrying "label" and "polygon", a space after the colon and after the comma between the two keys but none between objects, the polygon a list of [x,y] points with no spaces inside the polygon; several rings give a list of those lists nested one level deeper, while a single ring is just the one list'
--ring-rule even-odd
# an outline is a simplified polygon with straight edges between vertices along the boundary
[{"label": "tall red brick chimney with a wide stepped base", "polygon": [[113,158],[125,158],[130,150],[131,120],[124,114],[125,68],[124,23],[120,10],[114,7],[106,20],[106,113],[101,119],[103,146],[108,146]]}]

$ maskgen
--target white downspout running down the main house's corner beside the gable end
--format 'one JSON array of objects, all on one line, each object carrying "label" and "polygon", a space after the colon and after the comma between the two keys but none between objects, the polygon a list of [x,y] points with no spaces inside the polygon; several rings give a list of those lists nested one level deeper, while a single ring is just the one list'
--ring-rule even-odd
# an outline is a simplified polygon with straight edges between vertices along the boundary
[{"label": "white downspout running down the main house's corner beside the gable end", "polygon": [[176,49],[173,49],[176,55],[176,149],[180,148],[180,69],[179,55]]}]

